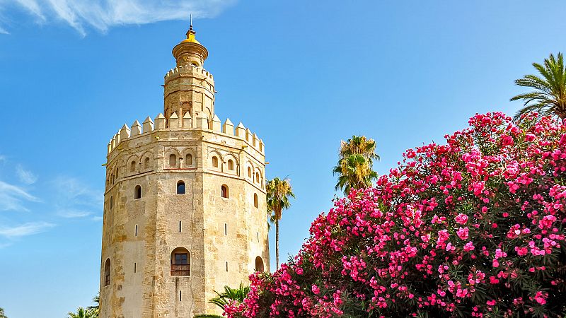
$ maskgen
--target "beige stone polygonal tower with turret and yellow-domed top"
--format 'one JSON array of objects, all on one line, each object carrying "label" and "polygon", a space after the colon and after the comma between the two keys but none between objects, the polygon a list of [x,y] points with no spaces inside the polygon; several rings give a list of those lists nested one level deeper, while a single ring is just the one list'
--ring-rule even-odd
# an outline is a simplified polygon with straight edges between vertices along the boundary
[{"label": "beige stone polygonal tower with turret and yellow-domed top", "polygon": [[219,314],[214,290],[269,271],[265,147],[214,114],[207,56],[191,25],[173,48],[163,113],[108,143],[101,318]]}]

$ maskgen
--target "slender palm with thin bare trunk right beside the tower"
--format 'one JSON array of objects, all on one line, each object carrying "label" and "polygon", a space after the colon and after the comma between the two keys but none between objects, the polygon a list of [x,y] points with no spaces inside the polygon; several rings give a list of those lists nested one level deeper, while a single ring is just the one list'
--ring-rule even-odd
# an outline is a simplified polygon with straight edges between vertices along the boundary
[{"label": "slender palm with thin bare trunk right beside the tower", "polygon": [[291,181],[287,178],[275,177],[267,182],[265,188],[267,190],[267,213],[270,213],[272,222],[275,223],[275,261],[279,269],[279,220],[281,220],[283,210],[291,206],[289,199],[294,198],[295,195],[291,189]]}]

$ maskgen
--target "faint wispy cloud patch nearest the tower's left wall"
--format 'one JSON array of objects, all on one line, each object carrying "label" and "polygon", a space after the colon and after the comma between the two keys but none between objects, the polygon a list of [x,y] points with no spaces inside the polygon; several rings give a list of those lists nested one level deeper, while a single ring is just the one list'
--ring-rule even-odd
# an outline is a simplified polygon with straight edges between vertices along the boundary
[{"label": "faint wispy cloud patch nearest the tower's left wall", "polygon": [[58,216],[84,218],[103,208],[103,194],[75,177],[57,177],[52,184],[57,189],[55,209]]}]

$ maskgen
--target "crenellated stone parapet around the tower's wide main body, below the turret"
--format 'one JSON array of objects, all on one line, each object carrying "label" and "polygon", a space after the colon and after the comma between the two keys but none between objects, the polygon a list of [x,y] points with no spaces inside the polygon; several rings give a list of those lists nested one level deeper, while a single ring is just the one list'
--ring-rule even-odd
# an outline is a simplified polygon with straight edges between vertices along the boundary
[{"label": "crenellated stone parapet around the tower's wide main body, below the turret", "polygon": [[149,116],[146,117],[142,124],[140,124],[137,120],[132,123],[132,126],[124,124],[124,126],[122,126],[122,128],[120,128],[117,133],[112,136],[110,142],[108,142],[108,155],[118,148],[122,141],[132,139],[137,136],[151,134],[153,131],[191,130],[213,131],[214,133],[233,136],[233,138],[246,141],[250,147],[259,153],[265,154],[265,144],[262,139],[260,139],[257,134],[250,131],[249,128],[246,128],[246,126],[244,126],[241,122],[238,126],[234,127],[234,124],[229,118],[227,118],[224,121],[224,124],[222,124],[219,117],[216,115],[214,115],[212,120],[205,117],[197,117],[193,119],[190,117],[188,112],[185,113],[183,118],[179,118],[177,113],[173,112],[168,119],[163,116],[162,113],[159,113],[155,119],[151,119]]}]

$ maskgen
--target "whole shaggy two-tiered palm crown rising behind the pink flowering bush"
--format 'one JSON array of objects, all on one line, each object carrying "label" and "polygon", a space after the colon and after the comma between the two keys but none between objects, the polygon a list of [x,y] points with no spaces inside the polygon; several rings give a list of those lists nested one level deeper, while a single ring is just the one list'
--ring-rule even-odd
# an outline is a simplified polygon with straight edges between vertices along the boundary
[{"label": "whole shaggy two-tiered palm crown rising behind the pink flowering bush", "polygon": [[338,163],[333,168],[333,174],[338,175],[335,189],[348,194],[350,189],[370,187],[377,178],[373,166],[379,155],[375,151],[376,141],[366,136],[352,136],[352,139],[341,141]]}]

